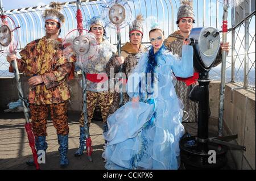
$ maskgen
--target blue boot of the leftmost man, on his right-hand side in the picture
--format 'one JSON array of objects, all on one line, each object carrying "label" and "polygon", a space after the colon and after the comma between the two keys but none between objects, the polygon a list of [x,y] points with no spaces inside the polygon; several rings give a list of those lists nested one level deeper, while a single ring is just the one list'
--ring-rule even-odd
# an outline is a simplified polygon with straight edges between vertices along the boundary
[{"label": "blue boot of the leftmost man, on his right-hand side in the picture", "polygon": [[65,168],[68,166],[68,135],[62,136],[58,134],[59,153],[60,153],[60,167]]}]

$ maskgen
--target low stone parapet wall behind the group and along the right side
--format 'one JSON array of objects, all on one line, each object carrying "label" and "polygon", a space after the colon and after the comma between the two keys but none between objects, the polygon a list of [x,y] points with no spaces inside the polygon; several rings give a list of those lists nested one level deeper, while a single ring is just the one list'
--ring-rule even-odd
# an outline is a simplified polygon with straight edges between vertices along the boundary
[{"label": "low stone parapet wall behind the group and along the right side", "polygon": [[[81,112],[82,89],[81,77],[69,81],[71,99],[69,111]],[[28,94],[27,78],[22,77],[24,94]],[[234,144],[246,146],[246,151],[234,151],[232,154],[237,169],[255,169],[255,91],[248,89],[236,90],[240,87],[237,83],[227,83],[224,103],[224,136],[238,134],[238,138],[232,141]],[[233,90],[232,90],[233,89]],[[209,106],[211,116],[209,129],[218,130],[218,105],[220,82],[212,81],[209,86]],[[14,78],[0,78],[0,108],[6,109],[7,104],[18,99]]]}]

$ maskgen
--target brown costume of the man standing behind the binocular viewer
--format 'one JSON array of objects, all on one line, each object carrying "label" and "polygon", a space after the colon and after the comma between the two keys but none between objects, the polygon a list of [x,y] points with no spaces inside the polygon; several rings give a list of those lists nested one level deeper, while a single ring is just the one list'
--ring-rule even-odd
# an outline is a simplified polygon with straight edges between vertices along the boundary
[{"label": "brown costume of the man standing behind the binocular viewer", "polygon": [[[166,45],[167,49],[170,50],[173,54],[177,54],[181,57],[181,50],[183,45],[184,37],[180,34],[180,31],[175,31],[171,35],[168,36],[166,40],[164,40],[164,45]],[[221,49],[218,52],[216,61],[214,66],[217,66],[221,63],[222,55]],[[189,92],[192,90],[193,86],[187,86],[183,81],[177,81],[175,86],[176,94],[179,99],[182,100],[184,104],[184,111],[188,112],[189,118],[186,122],[197,122],[198,120],[198,103],[193,102],[188,98]],[[187,117],[187,114],[184,114],[183,119]],[[192,134],[197,134],[197,124],[184,124],[187,131]]]}]

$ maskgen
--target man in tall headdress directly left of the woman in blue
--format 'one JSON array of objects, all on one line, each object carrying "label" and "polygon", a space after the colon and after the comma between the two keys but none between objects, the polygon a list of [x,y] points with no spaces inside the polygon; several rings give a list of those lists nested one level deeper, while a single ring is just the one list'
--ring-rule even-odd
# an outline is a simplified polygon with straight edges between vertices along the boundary
[{"label": "man in tall headdress directly left of the woman in blue", "polygon": [[[129,73],[132,73],[135,66],[138,64],[140,55],[145,52],[146,47],[142,45],[143,38],[143,16],[138,15],[137,18],[129,26],[129,37],[130,42],[126,42],[125,45],[121,47],[121,57],[118,57],[118,52],[115,53],[108,64],[106,65],[106,72],[110,76],[110,69],[114,69],[114,73],[118,73],[121,65],[122,73],[125,73],[126,79]],[[125,80],[123,81],[125,82]],[[125,87],[125,83],[123,84]],[[117,91],[114,91],[113,103],[110,106],[110,112],[114,113],[119,108],[120,96]],[[123,92],[123,104],[129,102],[129,96],[126,92]]]}]

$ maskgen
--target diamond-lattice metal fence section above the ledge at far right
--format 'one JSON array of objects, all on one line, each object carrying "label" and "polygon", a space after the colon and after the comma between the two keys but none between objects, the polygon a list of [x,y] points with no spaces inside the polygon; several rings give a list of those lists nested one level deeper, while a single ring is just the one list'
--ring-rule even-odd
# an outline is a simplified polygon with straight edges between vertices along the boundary
[{"label": "diamond-lattice metal fence section above the ledge at far right", "polygon": [[255,11],[232,28],[232,78],[255,90]]}]

